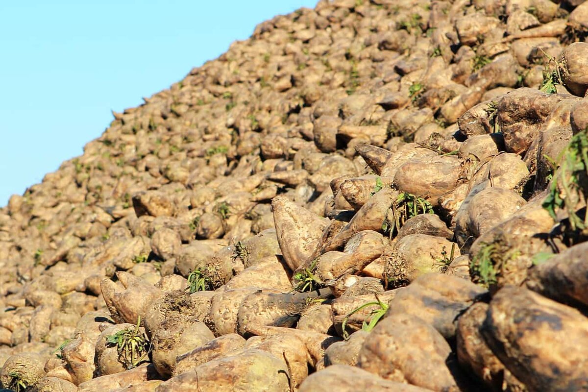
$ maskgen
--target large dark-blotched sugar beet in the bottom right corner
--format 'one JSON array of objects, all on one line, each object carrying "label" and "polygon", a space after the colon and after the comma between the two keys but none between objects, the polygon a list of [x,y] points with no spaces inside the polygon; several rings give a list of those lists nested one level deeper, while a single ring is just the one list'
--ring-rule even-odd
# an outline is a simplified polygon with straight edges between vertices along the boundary
[{"label": "large dark-blotched sugar beet in the bottom right corner", "polygon": [[583,350],[588,320],[579,311],[507,286],[490,301],[482,333],[493,353],[530,391],[588,386]]}]

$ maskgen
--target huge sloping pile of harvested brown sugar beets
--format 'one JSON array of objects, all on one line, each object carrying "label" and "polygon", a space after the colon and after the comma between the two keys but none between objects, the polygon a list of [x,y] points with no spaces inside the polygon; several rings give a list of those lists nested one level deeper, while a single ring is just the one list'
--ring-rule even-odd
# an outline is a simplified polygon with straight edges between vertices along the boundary
[{"label": "huge sloping pile of harvested brown sugar beets", "polygon": [[587,36],[581,0],[263,22],[0,210],[0,388],[586,390]]}]

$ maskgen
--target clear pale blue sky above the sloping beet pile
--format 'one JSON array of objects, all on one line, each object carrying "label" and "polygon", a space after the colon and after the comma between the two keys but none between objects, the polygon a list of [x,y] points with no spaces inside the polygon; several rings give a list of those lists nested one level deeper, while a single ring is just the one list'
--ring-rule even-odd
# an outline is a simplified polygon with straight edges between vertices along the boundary
[{"label": "clear pale blue sky above the sloping beet pile", "polygon": [[259,22],[318,0],[0,0],[0,206]]}]

